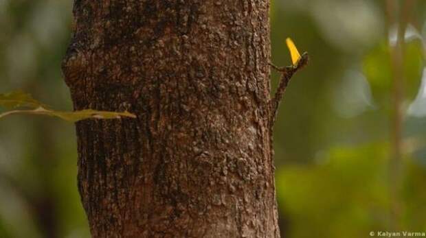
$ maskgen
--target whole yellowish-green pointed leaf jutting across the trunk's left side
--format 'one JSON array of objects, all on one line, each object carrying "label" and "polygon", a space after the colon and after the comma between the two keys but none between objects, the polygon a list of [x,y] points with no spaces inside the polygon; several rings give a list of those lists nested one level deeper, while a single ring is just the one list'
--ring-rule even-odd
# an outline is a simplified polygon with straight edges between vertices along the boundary
[{"label": "whole yellowish-green pointed leaf jutting across the trunk's left side", "polygon": [[65,121],[76,122],[84,119],[120,119],[122,117],[136,118],[130,112],[107,112],[100,110],[79,110],[75,112],[64,112],[51,110],[41,102],[36,101],[31,95],[21,91],[0,94],[0,106],[5,108],[30,108],[30,110],[9,110],[0,114],[1,117],[14,114],[45,115],[58,117]]}]

